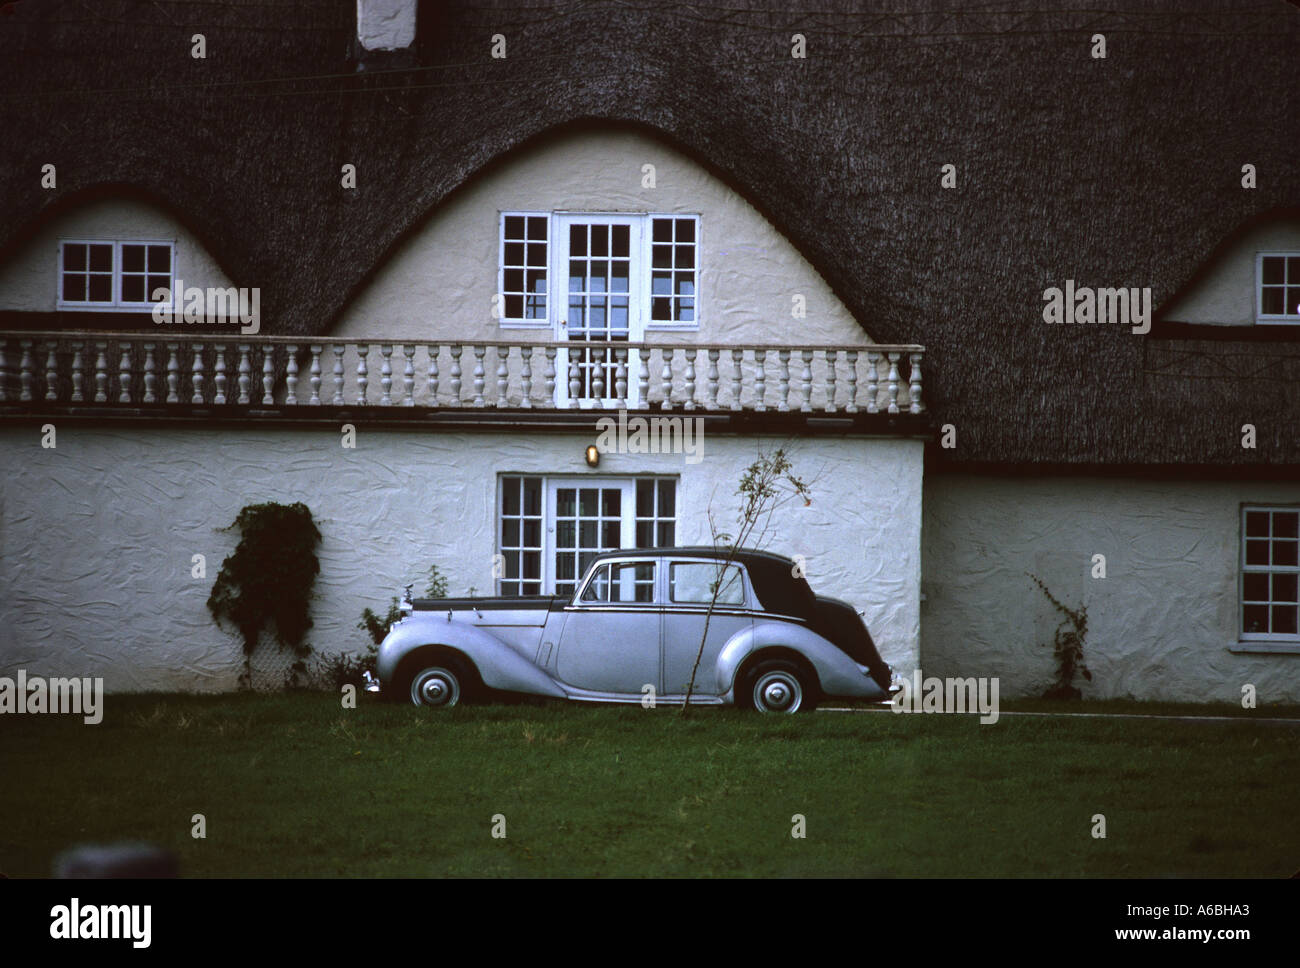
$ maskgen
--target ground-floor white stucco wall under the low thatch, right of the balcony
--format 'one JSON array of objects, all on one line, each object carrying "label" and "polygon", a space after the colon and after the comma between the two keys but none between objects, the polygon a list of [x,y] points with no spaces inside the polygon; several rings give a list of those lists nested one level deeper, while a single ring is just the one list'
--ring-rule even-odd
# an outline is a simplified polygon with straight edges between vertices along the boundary
[{"label": "ground-floor white stucco wall under the low thatch, right of the balcony", "polygon": [[[1086,696],[1300,702],[1300,655],[1238,655],[1243,503],[1300,503],[1297,483],[930,474],[922,668],[1000,676],[1040,695],[1062,603],[1088,607]],[[1092,578],[1105,555],[1106,578]]]}]

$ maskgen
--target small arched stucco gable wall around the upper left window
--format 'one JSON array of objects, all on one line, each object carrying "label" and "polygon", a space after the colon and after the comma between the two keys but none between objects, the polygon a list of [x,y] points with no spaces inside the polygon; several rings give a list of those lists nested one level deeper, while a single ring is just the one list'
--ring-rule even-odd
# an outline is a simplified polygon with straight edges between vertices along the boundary
[{"label": "small arched stucco gable wall around the upper left window", "polygon": [[174,242],[174,277],[186,287],[234,285],[194,234],[162,209],[135,199],[101,199],[51,220],[13,259],[0,265],[0,309],[53,312],[61,239]]}]

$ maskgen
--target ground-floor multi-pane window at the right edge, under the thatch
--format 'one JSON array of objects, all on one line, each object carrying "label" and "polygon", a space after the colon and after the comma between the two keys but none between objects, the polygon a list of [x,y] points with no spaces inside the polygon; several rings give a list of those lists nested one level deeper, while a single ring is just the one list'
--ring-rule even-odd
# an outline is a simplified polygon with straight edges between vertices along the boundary
[{"label": "ground-floor multi-pane window at the right edge, under the thatch", "polygon": [[1242,634],[1300,637],[1300,508],[1242,509]]}]

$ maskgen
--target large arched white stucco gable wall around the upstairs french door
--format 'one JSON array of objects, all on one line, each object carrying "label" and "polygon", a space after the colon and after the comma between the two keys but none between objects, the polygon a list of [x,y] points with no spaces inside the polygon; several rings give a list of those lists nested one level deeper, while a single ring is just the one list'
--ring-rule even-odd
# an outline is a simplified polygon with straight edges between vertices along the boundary
[{"label": "large arched white stucco gable wall around the upstairs french door", "polygon": [[[641,187],[642,165],[655,166],[654,188]],[[571,134],[474,181],[391,255],[330,335],[551,339],[549,331],[502,327],[491,314],[499,217],[512,210],[699,214],[699,330],[647,339],[868,342],[820,274],[753,205],[680,152],[625,130]],[[792,316],[796,294],[807,300],[806,318]]]}]

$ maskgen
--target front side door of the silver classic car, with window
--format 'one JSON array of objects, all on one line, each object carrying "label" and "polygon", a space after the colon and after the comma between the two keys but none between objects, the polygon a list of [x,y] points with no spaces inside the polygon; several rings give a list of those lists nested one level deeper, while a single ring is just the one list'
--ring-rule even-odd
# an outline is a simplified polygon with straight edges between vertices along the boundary
[{"label": "front side door of the silver classic car, with window", "polygon": [[599,564],[564,609],[560,681],[593,693],[658,693],[660,604],[654,559]]}]

